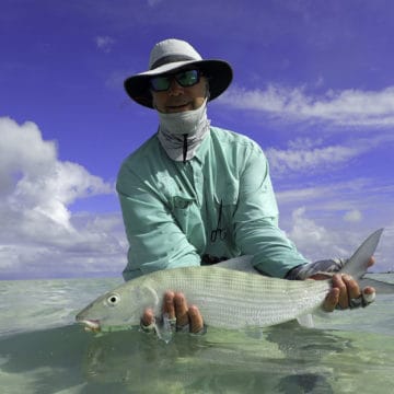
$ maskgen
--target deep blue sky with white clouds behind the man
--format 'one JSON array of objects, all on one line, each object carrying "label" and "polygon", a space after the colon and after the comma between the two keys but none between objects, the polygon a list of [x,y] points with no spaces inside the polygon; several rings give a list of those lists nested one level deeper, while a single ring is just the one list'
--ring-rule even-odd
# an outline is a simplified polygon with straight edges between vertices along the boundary
[{"label": "deep blue sky with white clouds behind the man", "polygon": [[300,251],[346,257],[384,227],[374,269],[392,269],[393,18],[389,0],[2,0],[0,279],[120,275],[116,174],[158,124],[123,80],[169,37],[232,65],[208,115],[262,146]]}]

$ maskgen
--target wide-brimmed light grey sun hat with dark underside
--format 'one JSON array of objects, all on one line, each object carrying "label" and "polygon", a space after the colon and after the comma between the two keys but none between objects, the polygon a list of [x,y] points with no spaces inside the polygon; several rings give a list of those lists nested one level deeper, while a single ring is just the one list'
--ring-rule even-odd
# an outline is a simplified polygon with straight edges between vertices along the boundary
[{"label": "wide-brimmed light grey sun hat with dark underside", "polygon": [[153,108],[149,80],[185,66],[196,66],[208,78],[210,101],[222,94],[232,81],[232,68],[227,61],[202,59],[190,44],[169,38],[154,45],[150,54],[148,71],[125,80],[126,92],[138,104]]}]

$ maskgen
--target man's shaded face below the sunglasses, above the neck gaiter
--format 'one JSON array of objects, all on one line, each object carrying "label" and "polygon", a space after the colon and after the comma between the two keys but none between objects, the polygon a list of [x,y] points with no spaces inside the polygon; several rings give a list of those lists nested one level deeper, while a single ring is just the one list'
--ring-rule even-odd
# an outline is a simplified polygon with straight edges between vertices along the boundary
[{"label": "man's shaded face below the sunglasses, above the neck gaiter", "polygon": [[[177,71],[178,74],[182,71]],[[193,86],[182,86],[174,76],[170,78],[170,86],[162,92],[151,90],[154,107],[164,114],[199,108],[207,96],[207,80],[200,76]]]}]

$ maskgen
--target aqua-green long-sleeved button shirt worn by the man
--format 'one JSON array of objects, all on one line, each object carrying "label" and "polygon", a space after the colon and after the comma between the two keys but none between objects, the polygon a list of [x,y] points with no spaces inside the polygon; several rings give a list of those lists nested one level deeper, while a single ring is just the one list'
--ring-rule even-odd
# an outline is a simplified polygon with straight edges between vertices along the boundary
[{"label": "aqua-green long-sleeved button shirt worn by the man", "polygon": [[154,135],[124,161],[117,192],[129,242],[125,280],[198,266],[206,255],[253,255],[274,277],[308,263],[278,228],[266,157],[245,136],[210,127],[184,163]]}]

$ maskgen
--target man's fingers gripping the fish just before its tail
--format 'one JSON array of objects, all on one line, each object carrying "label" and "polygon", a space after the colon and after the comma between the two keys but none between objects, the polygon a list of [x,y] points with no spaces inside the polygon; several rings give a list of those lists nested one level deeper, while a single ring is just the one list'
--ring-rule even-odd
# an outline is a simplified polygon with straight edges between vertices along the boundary
[{"label": "man's fingers gripping the fish just before its tail", "polygon": [[[374,258],[371,257],[368,266],[371,267],[374,264]],[[324,274],[316,274],[310,277],[310,279],[322,280],[327,279]],[[364,296],[373,297],[375,290],[372,287],[366,287],[362,289]],[[362,298],[361,289],[358,282],[347,274],[334,274],[333,275],[333,289],[327,294],[323,309],[326,312],[332,312],[336,308],[347,309],[349,308],[350,300],[360,300]]]}]

